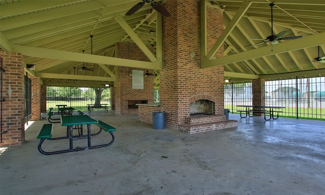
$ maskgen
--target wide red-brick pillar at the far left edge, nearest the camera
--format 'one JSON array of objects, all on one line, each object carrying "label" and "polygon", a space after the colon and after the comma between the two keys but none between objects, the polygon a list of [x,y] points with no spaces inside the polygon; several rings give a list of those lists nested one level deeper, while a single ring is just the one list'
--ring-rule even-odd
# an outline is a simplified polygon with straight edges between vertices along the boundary
[{"label": "wide red-brick pillar at the far left edge, nearest the camera", "polygon": [[[0,146],[20,145],[25,140],[24,131],[24,59],[19,53],[0,51],[3,58],[3,108]],[[1,89],[0,89],[1,90]]]}]

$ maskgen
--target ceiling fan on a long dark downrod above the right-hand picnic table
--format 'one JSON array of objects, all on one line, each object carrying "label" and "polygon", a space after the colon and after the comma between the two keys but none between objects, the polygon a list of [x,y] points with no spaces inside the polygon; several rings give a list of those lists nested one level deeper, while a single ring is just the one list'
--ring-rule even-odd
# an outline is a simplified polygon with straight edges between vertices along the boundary
[{"label": "ceiling fan on a long dark downrod above the right-hand picnic table", "polygon": [[[303,36],[294,36],[294,37],[282,37],[283,35],[285,35],[287,33],[287,31],[281,31],[279,32],[277,35],[273,35],[273,7],[275,6],[275,4],[271,3],[270,7],[271,7],[271,35],[269,37],[267,37],[266,39],[251,39],[251,40],[264,40],[264,42],[262,43],[258,43],[256,45],[259,44],[263,44],[263,43],[267,43],[267,42],[271,42],[272,45],[274,44],[278,44],[278,40],[290,40],[290,39],[298,39],[298,38],[302,38]],[[253,45],[255,46],[255,45]]]}]

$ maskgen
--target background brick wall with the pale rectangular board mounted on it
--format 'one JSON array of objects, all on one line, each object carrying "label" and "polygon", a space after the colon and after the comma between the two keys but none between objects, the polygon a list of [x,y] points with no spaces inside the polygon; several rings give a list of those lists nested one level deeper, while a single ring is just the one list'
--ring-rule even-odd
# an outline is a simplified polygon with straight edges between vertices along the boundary
[{"label": "background brick wall with the pale rectangular board mounted on it", "polygon": [[[148,47],[153,51],[152,47]],[[125,59],[135,59],[149,61],[147,56],[140,48],[131,42],[119,44],[119,57]],[[132,70],[142,70],[144,73],[147,70],[129,67],[119,68],[119,81],[115,82],[115,114],[138,114],[138,109],[128,108],[127,101],[147,100],[148,104],[153,103],[153,76],[144,77],[144,89],[132,89],[132,77],[129,76]],[[153,74],[153,70],[149,70]]]}]

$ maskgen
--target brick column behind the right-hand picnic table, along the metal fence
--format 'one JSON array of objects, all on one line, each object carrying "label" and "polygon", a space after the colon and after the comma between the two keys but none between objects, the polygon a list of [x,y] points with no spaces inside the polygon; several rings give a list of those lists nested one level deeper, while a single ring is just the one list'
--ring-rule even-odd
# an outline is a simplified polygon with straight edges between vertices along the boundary
[{"label": "brick column behind the right-hand picnic table, along the metal fence", "polygon": [[[253,79],[253,106],[265,106],[265,79]],[[264,116],[263,113],[255,113],[256,116]]]}]

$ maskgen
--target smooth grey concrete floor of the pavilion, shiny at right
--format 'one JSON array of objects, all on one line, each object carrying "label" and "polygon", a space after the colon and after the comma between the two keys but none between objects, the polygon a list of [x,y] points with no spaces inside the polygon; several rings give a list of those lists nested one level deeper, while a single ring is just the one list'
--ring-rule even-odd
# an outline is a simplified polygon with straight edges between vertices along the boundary
[{"label": "smooth grey concrete floor of the pavilion, shiny at right", "polygon": [[[230,119],[238,120],[238,127],[189,135],[153,129],[136,115],[115,116],[111,111],[89,115],[117,128],[111,146],[44,155],[37,149],[36,135],[48,121],[36,121],[27,128],[23,145],[9,147],[1,156],[0,194],[325,191],[324,121],[265,121],[263,117],[241,119],[230,114]],[[59,123],[54,125],[53,136],[64,132]],[[104,140],[109,134],[103,132],[98,138]],[[68,142],[47,144],[53,149],[68,147]]]}]

